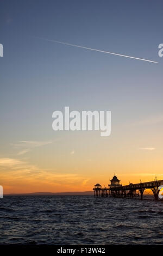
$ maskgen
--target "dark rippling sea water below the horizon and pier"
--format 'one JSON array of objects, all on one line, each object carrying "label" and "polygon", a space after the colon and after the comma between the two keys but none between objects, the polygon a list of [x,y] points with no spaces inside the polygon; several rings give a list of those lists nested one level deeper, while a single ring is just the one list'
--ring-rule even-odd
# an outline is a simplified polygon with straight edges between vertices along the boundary
[{"label": "dark rippling sea water below the horizon and pier", "polygon": [[163,202],[92,196],[0,199],[1,244],[163,245]]}]

